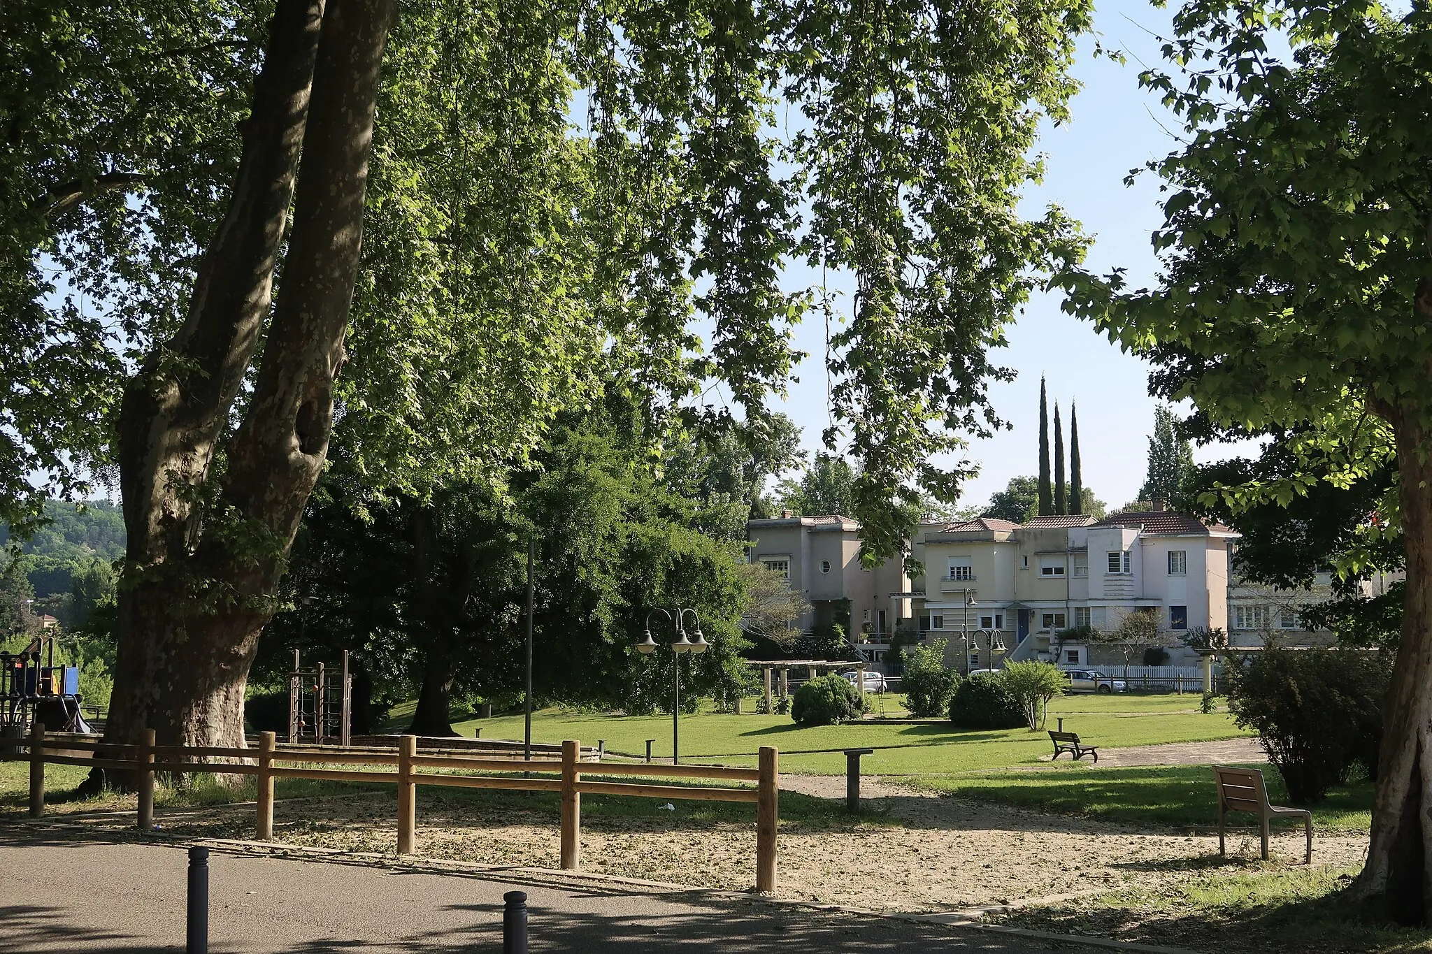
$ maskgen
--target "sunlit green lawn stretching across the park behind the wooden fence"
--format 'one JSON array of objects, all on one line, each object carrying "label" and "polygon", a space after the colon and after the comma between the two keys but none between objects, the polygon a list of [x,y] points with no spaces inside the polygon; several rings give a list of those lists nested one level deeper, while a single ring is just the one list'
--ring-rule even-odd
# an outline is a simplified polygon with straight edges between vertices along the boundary
[{"label": "sunlit green lawn stretching across the park behind the wooden fence", "polygon": [[[404,707],[407,708],[407,707]],[[411,708],[395,709],[392,725],[404,725]],[[1064,717],[1064,728],[1104,748],[1199,742],[1247,735],[1227,712],[1203,714],[1194,695],[1071,695],[1050,704],[1050,727]],[[483,729],[483,738],[521,739],[523,717],[455,722],[463,735]],[[978,769],[1034,765],[1050,754],[1050,739],[1028,729],[961,731],[948,724],[882,725],[862,721],[799,728],[789,715],[682,715],[682,757],[733,765],[755,764],[756,749],[780,749],[780,769],[793,774],[845,772],[846,748],[874,748],[865,771],[875,775],[942,775]],[[672,754],[672,717],[629,717],[548,708],[533,714],[533,741],[580,739],[626,755]]]}]

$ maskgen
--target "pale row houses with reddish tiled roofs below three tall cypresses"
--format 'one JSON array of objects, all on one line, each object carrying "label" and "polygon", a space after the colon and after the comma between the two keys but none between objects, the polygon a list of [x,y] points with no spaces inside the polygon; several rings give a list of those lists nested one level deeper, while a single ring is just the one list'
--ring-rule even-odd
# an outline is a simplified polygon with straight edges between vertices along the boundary
[{"label": "pale row houses with reddish tiled roofs below three tall cypresses", "polygon": [[1061,645],[1058,631],[1113,629],[1136,609],[1154,611],[1173,635],[1226,629],[1234,539],[1169,511],[928,525],[915,542],[927,572],[915,581],[915,614],[927,639],[949,639],[957,658],[965,645],[988,655],[997,642],[1004,658],[1087,665],[1088,646]]}]

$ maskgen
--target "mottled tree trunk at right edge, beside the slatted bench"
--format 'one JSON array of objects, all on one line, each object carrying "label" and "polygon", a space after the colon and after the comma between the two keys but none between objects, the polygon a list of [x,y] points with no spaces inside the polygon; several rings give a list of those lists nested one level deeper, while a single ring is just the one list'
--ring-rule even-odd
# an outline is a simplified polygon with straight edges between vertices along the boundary
[{"label": "mottled tree trunk at right edge, beside the slatted bench", "polygon": [[1432,448],[1416,416],[1385,416],[1396,432],[1408,582],[1358,891],[1385,895],[1390,917],[1418,924],[1432,921]]}]

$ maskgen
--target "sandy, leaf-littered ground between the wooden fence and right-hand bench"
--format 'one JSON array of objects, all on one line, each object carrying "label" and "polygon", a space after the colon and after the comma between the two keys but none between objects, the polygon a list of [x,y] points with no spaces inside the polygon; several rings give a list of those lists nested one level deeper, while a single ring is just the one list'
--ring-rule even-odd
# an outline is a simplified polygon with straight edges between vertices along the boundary
[{"label": "sandy, leaf-littered ground between the wooden fence and right-hand bench", "polygon": [[[1243,759],[1246,761],[1246,759]],[[843,780],[786,777],[789,790],[843,797]],[[1156,887],[1187,861],[1217,852],[1217,835],[1150,832],[1094,820],[1040,815],[865,780],[862,795],[881,821],[786,820],[780,828],[779,894],[878,911],[967,910],[1126,885]],[[755,821],[710,822],[683,808],[650,815],[583,818],[587,871],[689,885],[745,890],[755,880]],[[93,824],[133,824],[132,815]],[[168,811],[176,834],[252,838],[252,805]],[[395,850],[391,794],[295,800],[276,805],[279,841],[355,851]],[[1366,835],[1317,835],[1315,862],[1358,864]],[[1230,852],[1256,857],[1257,837],[1239,830]],[[1302,831],[1273,841],[1274,858],[1300,861]],[[557,818],[548,810],[494,808],[420,790],[418,854],[491,865],[558,867]]]}]

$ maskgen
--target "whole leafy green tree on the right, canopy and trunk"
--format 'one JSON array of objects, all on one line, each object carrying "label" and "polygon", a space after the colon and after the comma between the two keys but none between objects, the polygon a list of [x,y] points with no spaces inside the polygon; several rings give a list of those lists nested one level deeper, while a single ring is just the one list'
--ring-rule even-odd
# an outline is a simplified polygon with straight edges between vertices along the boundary
[{"label": "whole leafy green tree on the right, canopy and trunk", "polygon": [[[1432,139],[1421,103],[1432,20],[1415,4],[1193,0],[1167,44],[1176,73],[1143,82],[1186,122],[1154,233],[1157,287],[1070,272],[1068,308],[1123,346],[1181,349],[1191,398],[1226,431],[1296,433],[1287,476],[1223,486],[1237,506],[1290,503],[1392,463],[1369,539],[1402,533],[1408,584],[1386,699],[1368,862],[1356,894],[1399,921],[1432,904]],[[1292,60],[1269,34],[1293,43]],[[1392,492],[1395,491],[1395,493]],[[1359,556],[1348,564],[1356,568]]]}]

